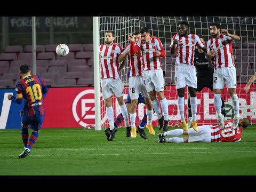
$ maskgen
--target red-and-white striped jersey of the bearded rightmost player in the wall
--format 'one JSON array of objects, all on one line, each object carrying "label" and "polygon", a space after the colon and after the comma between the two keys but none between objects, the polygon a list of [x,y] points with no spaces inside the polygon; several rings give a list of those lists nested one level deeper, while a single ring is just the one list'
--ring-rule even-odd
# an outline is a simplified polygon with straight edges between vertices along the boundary
[{"label": "red-and-white striped jersey of the bearded rightmost player in the wall", "polygon": [[215,51],[215,69],[218,67],[235,67],[231,37],[221,34],[218,39],[209,39],[207,52],[211,50]]}]

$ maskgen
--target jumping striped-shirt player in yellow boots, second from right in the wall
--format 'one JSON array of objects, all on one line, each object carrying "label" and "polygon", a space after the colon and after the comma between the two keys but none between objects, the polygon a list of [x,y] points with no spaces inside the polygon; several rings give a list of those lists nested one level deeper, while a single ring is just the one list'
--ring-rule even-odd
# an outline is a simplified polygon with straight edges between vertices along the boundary
[{"label": "jumping striped-shirt player in yellow boots, second from right in the wall", "polygon": [[[197,113],[197,98],[196,87],[197,77],[196,68],[194,66],[195,49],[202,49],[206,52],[204,44],[197,35],[189,33],[189,24],[187,21],[182,21],[179,24],[179,33],[172,37],[171,54],[176,52],[175,60],[175,85],[178,91],[178,106],[181,116],[182,127],[188,131],[188,125],[185,121],[184,106],[185,106],[185,86],[188,86],[191,102],[192,119],[191,124],[193,129],[197,131],[196,113]],[[207,59],[208,60],[208,59]],[[210,58],[211,60],[211,58]]]}]

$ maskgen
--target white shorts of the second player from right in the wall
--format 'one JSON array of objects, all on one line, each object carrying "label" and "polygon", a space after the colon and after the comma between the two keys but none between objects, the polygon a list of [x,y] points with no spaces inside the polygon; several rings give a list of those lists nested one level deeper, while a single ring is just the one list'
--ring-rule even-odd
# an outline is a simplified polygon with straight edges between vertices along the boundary
[{"label": "white shorts of the second player from right in the wall", "polygon": [[190,66],[186,63],[180,63],[175,66],[175,85],[176,89],[185,87],[197,87],[197,77],[195,66]]}]

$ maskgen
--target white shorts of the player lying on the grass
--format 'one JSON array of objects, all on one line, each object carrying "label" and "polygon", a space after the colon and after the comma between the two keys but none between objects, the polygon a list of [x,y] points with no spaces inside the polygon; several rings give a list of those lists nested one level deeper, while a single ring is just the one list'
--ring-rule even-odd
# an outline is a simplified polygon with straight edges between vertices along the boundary
[{"label": "white shorts of the player lying on the grass", "polygon": [[212,142],[210,125],[198,126],[198,131],[188,129],[188,142]]}]

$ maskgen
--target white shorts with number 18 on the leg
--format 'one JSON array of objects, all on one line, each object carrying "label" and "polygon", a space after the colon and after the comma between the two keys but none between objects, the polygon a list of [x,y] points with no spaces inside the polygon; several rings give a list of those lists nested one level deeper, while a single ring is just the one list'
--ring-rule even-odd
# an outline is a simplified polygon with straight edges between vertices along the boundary
[{"label": "white shorts with number 18 on the leg", "polygon": [[129,93],[131,100],[138,99],[140,95],[140,87],[142,82],[142,76],[133,76],[129,78]]}]

